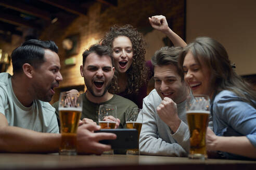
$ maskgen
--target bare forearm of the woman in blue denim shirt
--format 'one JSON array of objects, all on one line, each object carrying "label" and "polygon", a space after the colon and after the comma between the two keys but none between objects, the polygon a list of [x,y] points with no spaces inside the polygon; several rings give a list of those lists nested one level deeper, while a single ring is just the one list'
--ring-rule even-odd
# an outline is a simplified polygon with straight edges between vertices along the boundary
[{"label": "bare forearm of the woman in blue denim shirt", "polygon": [[246,136],[217,136],[215,150],[256,158],[256,148]]}]

